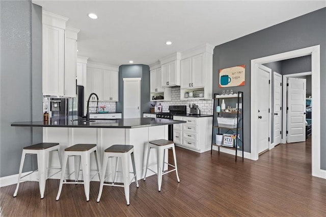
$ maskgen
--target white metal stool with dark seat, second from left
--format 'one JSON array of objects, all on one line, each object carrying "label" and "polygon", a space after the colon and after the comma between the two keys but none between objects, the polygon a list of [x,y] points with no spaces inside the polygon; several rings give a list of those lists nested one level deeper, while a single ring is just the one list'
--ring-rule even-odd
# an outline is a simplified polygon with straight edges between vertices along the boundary
[{"label": "white metal stool with dark seat, second from left", "polygon": [[[96,167],[97,172],[96,174],[91,177],[91,153],[94,152],[95,161],[96,161]],[[74,172],[70,173],[68,176],[75,174],[75,181],[67,181],[65,178],[65,170],[67,166],[68,158],[73,156],[75,161],[75,170]],[[83,182],[78,181],[79,177],[79,171],[80,171],[80,162],[82,162],[82,171],[83,171]],[[99,161],[97,157],[97,146],[96,144],[76,144],[71,147],[68,147],[65,149],[64,152],[64,158],[63,158],[63,171],[61,173],[61,179],[59,184],[59,191],[57,195],[57,199],[59,200],[60,194],[62,191],[62,185],[63,184],[84,184],[84,190],[85,190],[85,196],[86,200],[89,201],[89,195],[90,195],[90,181],[98,175],[100,178],[100,170],[99,170]]]}]

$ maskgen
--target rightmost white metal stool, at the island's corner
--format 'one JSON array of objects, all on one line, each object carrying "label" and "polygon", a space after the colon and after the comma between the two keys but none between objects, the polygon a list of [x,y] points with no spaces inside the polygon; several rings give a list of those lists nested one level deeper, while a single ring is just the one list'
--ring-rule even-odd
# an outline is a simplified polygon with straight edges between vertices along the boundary
[{"label": "rightmost white metal stool, at the island's corner", "polygon": [[[148,167],[149,154],[150,154],[150,151],[152,148],[156,149],[156,153],[157,153],[157,172],[151,170]],[[174,165],[171,165],[168,162],[165,162],[165,151],[170,148],[172,148],[172,152],[173,152]],[[173,167],[174,169],[164,172],[165,164]],[[177,181],[180,182],[179,175],[178,175],[178,167],[177,167],[177,157],[175,154],[175,146],[174,146],[173,141],[161,139],[161,140],[154,140],[154,141],[149,142],[144,181],[146,180],[147,170],[150,170],[157,175],[157,185],[158,185],[159,192],[161,191],[162,176],[165,174],[175,171],[176,175],[177,175]]]}]

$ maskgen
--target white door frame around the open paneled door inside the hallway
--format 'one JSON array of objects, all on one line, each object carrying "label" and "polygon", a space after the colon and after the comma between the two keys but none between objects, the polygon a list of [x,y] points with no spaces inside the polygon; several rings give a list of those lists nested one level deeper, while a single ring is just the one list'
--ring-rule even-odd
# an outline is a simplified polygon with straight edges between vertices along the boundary
[{"label": "white door frame around the open paneled door inside the hallway", "polygon": [[[283,107],[285,108],[286,105],[287,105],[287,79],[289,77],[300,77],[300,76],[306,76],[306,75],[312,75],[312,72],[301,72],[301,73],[294,73],[294,74],[285,74],[283,75],[283,81],[282,81],[282,84],[283,84],[283,94],[282,94],[282,104],[283,104]],[[311,83],[312,83],[312,77],[311,77]],[[311,85],[312,87],[312,85]],[[282,139],[281,139],[281,143],[282,144],[285,144],[286,143],[286,128],[287,128],[287,113],[286,113],[286,109],[282,110]],[[320,119],[319,119],[320,120]],[[320,124],[319,124],[320,125]],[[284,130],[285,129],[285,130]],[[285,132],[283,134],[283,132]],[[285,135],[285,136],[283,136]]]}]

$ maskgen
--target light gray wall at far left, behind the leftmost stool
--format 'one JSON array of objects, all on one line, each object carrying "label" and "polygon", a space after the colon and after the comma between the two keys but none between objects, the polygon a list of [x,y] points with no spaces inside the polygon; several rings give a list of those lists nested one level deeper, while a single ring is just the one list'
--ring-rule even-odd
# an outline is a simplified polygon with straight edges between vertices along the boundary
[{"label": "light gray wall at far left, behind the leftmost stool", "polygon": [[[42,8],[31,1],[0,4],[0,177],[4,177],[18,173],[24,146],[43,139],[42,129],[10,126],[15,121],[42,120]],[[24,171],[36,168],[35,157],[25,162]]]}]

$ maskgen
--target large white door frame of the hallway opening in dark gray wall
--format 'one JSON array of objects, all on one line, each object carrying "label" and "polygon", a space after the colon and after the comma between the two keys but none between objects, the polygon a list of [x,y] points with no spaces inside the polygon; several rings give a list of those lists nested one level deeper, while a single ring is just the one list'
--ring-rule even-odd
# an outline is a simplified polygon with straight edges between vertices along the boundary
[{"label": "large white door frame of the hallway opening in dark gray wall", "polygon": [[[288,60],[297,57],[304,57],[311,55],[311,86],[312,98],[314,98],[314,106],[312,107],[312,130],[311,135],[311,169],[312,176],[326,178],[326,170],[320,168],[320,45],[306,47],[302,49],[292,50],[288,52],[278,53],[267,57],[251,60],[251,117],[257,116],[257,87],[256,87],[256,74],[257,65],[276,62],[281,60]],[[258,160],[256,133],[257,123],[253,120],[250,123],[250,148],[251,159]]]}]

